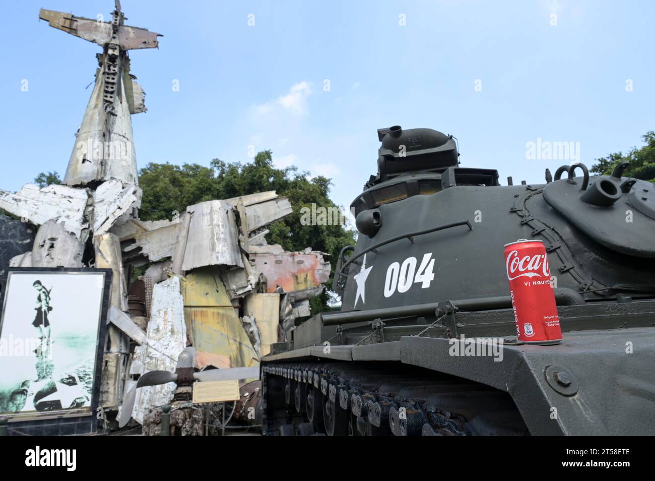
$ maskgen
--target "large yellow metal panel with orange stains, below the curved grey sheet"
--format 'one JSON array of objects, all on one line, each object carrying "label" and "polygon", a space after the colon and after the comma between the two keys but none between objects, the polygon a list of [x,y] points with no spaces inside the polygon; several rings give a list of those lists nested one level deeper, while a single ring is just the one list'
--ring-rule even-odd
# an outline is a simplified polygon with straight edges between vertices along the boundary
[{"label": "large yellow metal panel with orange stains, below the curved grey sheet", "polygon": [[182,284],[189,339],[196,349],[196,367],[252,367],[259,355],[244,330],[217,269],[188,273]]}]

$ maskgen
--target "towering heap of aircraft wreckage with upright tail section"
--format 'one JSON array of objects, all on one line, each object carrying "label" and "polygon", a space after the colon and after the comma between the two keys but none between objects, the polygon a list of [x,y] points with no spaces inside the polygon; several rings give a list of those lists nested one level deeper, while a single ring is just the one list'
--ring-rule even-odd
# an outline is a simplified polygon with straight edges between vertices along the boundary
[{"label": "towering heap of aircraft wreckage with upright tail section", "polygon": [[[181,409],[172,427],[206,434],[204,408],[202,415],[189,408],[189,382],[170,374],[160,377],[164,384],[136,389],[138,379],[181,372],[180,366],[194,375],[214,372],[200,380],[251,368],[232,378],[253,381],[242,382],[239,405],[256,407],[259,358],[286,339],[295,317],[309,316],[309,299],[322,292],[330,264],[310,248],[285,252],[267,244],[267,225],[292,212],[274,191],[200,202],[172,220],[139,220],[130,117],[146,111],[145,92],[130,73],[128,51],[157,48],[161,35],[124,25],[118,1],[111,22],[44,9],[39,18],[100,45],[102,53],[63,185],[0,190],[0,208],[20,218],[0,216],[0,269],[111,269],[100,388],[105,419],[122,410],[121,425],[132,418],[152,434],[159,408],[175,396]],[[134,268],[144,265],[132,280]]]}]

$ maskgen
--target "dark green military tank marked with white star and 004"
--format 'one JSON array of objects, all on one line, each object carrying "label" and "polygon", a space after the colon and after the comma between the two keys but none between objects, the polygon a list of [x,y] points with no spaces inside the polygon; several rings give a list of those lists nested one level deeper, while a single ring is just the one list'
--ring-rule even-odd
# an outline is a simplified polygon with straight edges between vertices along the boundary
[{"label": "dark green military tank marked with white star and 004", "polygon": [[[337,261],[341,310],[262,359],[263,433],[654,434],[652,183],[577,163],[500,185],[459,166],[453,136],[377,134],[377,175],[351,205],[358,240]],[[503,258],[517,239],[546,246],[558,345],[517,339]]]}]

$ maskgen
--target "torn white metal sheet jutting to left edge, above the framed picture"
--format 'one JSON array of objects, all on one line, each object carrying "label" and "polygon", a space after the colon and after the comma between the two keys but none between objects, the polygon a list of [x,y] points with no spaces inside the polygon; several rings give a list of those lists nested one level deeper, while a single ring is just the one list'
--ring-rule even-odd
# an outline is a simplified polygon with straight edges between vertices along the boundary
[{"label": "torn white metal sheet jutting to left edge, above the framed picture", "polygon": [[56,220],[64,224],[65,231],[84,241],[88,235],[92,198],[88,189],[66,185],[48,185],[39,189],[28,183],[16,193],[0,189],[0,208],[36,225]]}]

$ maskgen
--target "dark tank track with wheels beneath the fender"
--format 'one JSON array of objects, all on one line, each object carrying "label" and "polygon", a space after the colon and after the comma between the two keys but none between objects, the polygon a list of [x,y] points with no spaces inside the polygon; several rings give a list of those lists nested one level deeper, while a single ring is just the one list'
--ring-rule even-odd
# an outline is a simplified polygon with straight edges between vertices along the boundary
[{"label": "dark tank track with wheels beneath the fender", "polygon": [[508,393],[400,362],[263,364],[269,436],[526,436]]}]

